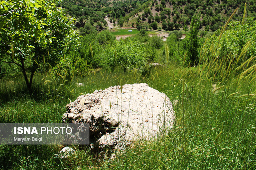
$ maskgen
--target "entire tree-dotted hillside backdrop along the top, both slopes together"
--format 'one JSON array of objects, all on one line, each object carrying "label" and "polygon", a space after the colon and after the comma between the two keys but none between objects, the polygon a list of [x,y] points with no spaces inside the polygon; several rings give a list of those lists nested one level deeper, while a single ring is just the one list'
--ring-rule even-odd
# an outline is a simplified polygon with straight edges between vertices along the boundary
[{"label": "entire tree-dotted hillside backdrop along the top, both slopes together", "polygon": [[201,15],[200,28],[215,31],[238,8],[233,17],[241,20],[247,4],[246,16],[256,18],[256,0],[63,0],[61,6],[77,18],[77,27],[85,22],[104,29],[110,22],[122,26],[152,29],[188,29],[193,14]]}]

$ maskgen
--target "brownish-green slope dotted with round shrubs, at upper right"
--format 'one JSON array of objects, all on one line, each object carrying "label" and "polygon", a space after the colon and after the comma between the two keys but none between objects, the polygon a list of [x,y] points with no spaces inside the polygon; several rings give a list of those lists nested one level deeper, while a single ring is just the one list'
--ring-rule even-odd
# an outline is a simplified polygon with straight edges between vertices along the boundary
[{"label": "brownish-green slope dotted with round shrubs, at upper right", "polygon": [[233,20],[242,20],[244,3],[247,3],[247,16],[256,17],[254,0],[152,0],[146,2],[147,8],[130,14],[126,27],[188,30],[194,13],[200,15],[200,28],[215,31],[228,20],[238,8]]}]

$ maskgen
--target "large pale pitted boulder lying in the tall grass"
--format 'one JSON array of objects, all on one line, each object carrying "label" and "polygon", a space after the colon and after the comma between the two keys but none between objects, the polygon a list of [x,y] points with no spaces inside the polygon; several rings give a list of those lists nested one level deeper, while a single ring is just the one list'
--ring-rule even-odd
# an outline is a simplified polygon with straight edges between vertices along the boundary
[{"label": "large pale pitted boulder lying in the tall grass", "polygon": [[169,98],[148,84],[125,84],[79,96],[62,119],[89,123],[91,148],[120,149],[171,128],[174,110]]}]

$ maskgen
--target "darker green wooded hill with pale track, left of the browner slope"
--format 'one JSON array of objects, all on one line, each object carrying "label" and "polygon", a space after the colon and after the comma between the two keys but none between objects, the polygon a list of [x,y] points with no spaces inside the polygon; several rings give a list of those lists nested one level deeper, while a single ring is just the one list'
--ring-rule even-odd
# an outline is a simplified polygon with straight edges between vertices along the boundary
[{"label": "darker green wooded hill with pale track, left of the browner slope", "polygon": [[[138,9],[147,0],[63,0],[58,3],[68,14],[77,18],[77,27],[90,22],[96,26],[106,26],[105,16],[112,18],[111,22],[125,17]],[[102,24],[102,25],[101,25]]]}]

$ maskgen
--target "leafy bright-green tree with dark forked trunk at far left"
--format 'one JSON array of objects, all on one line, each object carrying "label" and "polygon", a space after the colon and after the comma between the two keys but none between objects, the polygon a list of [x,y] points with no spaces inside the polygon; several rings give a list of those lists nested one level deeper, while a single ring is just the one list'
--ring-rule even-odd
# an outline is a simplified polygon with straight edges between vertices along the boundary
[{"label": "leafy bright-green tree with dark forked trunk at far left", "polygon": [[34,74],[54,66],[76,37],[72,19],[50,0],[2,1],[0,14],[0,61],[20,67],[31,92]]}]

